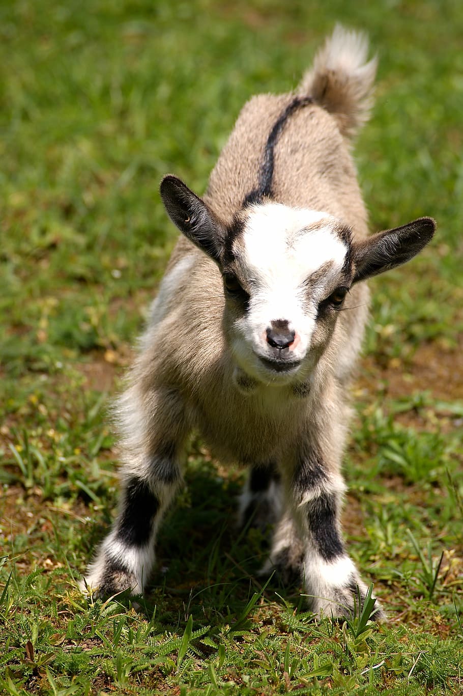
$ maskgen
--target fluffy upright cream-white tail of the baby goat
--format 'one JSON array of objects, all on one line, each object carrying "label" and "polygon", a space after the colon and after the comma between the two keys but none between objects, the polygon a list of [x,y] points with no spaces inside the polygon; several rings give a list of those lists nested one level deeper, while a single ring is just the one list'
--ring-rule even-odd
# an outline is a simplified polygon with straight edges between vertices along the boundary
[{"label": "fluffy upright cream-white tail of the baby goat", "polygon": [[343,136],[356,134],[373,104],[377,58],[367,56],[366,34],[336,24],[298,88],[334,116]]}]

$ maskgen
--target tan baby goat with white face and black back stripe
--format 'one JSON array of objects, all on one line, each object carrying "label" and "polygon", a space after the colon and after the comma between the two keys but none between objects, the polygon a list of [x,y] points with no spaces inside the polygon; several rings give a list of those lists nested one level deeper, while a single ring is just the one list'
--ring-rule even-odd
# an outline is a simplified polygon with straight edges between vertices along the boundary
[{"label": "tan baby goat with white face and black back stripe", "polygon": [[318,615],[351,615],[365,596],[340,524],[348,385],[368,315],[359,281],[434,233],[421,218],[367,236],[350,156],[371,104],[367,48],[337,26],[295,92],[253,97],[202,198],[172,175],[161,182],[184,236],[117,406],[122,500],[83,583],[101,595],[147,585],[196,428],[222,461],[250,466],[241,516],[275,523],[266,569],[302,581]]}]

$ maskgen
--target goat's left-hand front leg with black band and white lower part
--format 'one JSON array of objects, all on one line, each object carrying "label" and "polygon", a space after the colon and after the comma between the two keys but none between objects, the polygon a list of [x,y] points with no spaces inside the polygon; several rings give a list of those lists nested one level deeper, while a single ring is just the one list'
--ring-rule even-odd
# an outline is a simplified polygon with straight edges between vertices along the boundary
[{"label": "goat's left-hand front leg with black band and white lower part", "polygon": [[81,590],[90,588],[97,596],[143,592],[159,523],[181,484],[178,454],[185,424],[173,393],[142,400],[131,389],[120,403],[126,452],[119,512],[81,582]]}]

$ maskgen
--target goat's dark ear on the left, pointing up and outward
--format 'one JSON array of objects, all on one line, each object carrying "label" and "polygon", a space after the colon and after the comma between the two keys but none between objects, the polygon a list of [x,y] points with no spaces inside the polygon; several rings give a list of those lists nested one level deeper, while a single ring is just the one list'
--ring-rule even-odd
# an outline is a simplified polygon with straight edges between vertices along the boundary
[{"label": "goat's dark ear on the left, pointing up and outward", "polygon": [[172,174],[163,178],[160,190],[165,209],[174,225],[218,262],[223,248],[222,226],[204,200]]}]

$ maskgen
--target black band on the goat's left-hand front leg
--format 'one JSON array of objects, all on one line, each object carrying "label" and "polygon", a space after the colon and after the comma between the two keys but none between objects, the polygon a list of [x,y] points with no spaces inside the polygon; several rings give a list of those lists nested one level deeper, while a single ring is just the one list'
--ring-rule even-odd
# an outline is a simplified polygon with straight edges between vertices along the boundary
[{"label": "black band on the goat's left-hand front leg", "polygon": [[137,477],[127,484],[124,509],[117,525],[117,537],[127,546],[143,546],[151,536],[152,522],[159,509],[159,500],[146,481]]}]

